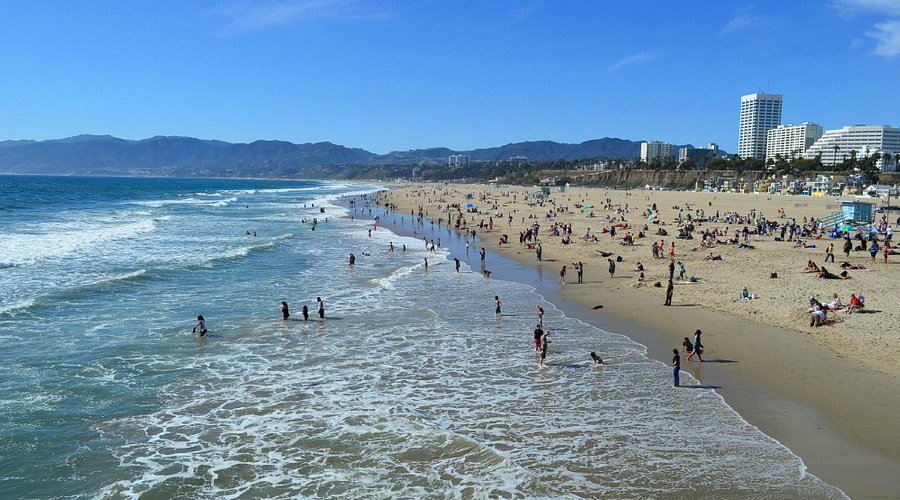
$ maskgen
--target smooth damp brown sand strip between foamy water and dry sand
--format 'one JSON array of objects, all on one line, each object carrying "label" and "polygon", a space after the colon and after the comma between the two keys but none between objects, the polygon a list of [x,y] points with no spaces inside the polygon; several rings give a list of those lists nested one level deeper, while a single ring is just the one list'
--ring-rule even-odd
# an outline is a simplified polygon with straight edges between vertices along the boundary
[{"label": "smooth damp brown sand strip between foamy water and dry sand", "polygon": [[[417,187],[439,186],[401,189]],[[379,202],[387,199],[398,205],[398,212],[405,212],[415,208],[413,202],[425,201],[411,198],[401,203],[399,192],[392,187],[388,198],[379,197]],[[515,261],[524,269],[521,282],[535,286],[567,316],[626,335],[646,346],[651,359],[665,363],[682,337],[690,337],[697,327],[703,329],[709,361],[684,362],[683,371],[715,387],[743,419],[798,455],[810,473],[847,495],[900,495],[900,478],[891,474],[900,470],[900,419],[895,417],[900,411],[896,400],[900,379],[896,375],[867,368],[794,330],[751,323],[696,304],[678,304],[677,298],[678,307],[664,308],[652,294],[627,286],[629,276],[609,279],[602,276],[606,273],[600,266],[586,271],[583,284],[559,286],[558,267],[567,260],[554,261],[545,250],[548,258],[537,262],[533,252],[512,242],[498,248],[496,242],[491,244],[496,234],[479,234],[489,259],[496,253]],[[592,310],[597,304],[603,308]]]}]

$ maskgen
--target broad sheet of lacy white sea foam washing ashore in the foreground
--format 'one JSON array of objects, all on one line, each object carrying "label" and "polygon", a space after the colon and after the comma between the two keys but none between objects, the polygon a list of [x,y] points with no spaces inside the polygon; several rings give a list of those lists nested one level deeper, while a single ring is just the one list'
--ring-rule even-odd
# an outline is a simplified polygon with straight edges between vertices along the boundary
[{"label": "broad sheet of lacy white sea foam washing ashore in the foreground", "polygon": [[[142,471],[103,495],[843,497],[711,391],[673,392],[643,346],[522,285],[408,267],[388,304],[377,288],[335,293],[355,305],[316,336],[259,327],[178,360],[203,377],[100,429]],[[529,353],[535,303],[554,335],[544,369]],[[590,349],[615,361],[595,370]]]}]

